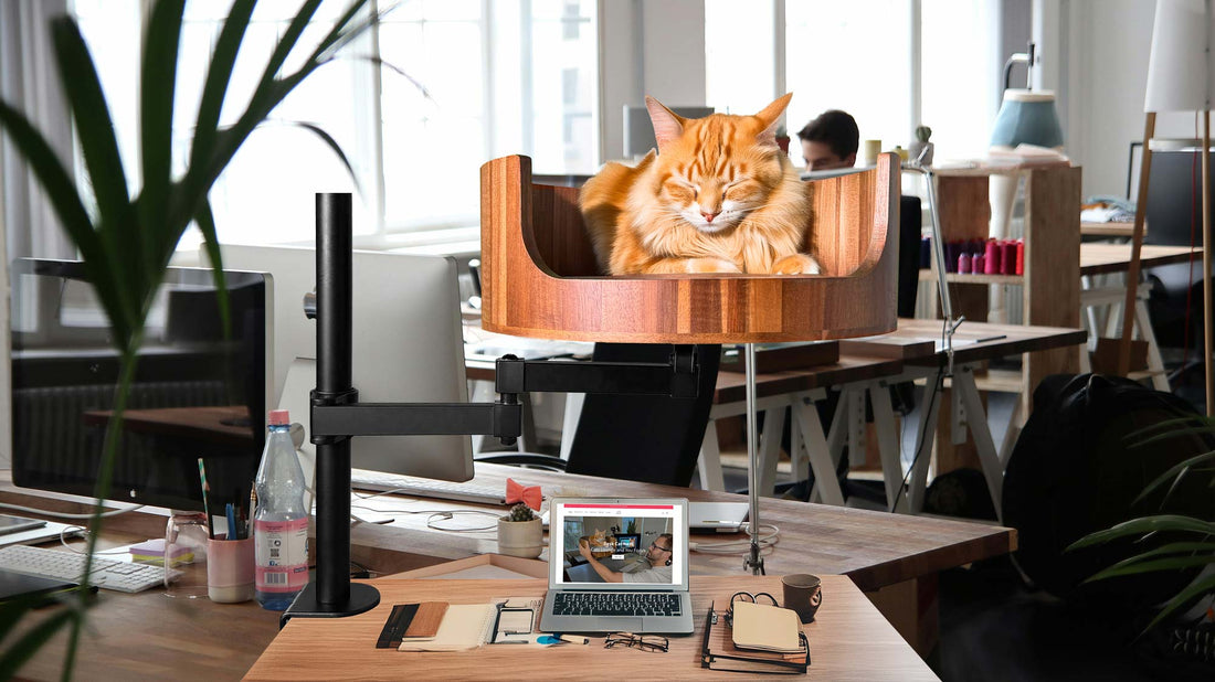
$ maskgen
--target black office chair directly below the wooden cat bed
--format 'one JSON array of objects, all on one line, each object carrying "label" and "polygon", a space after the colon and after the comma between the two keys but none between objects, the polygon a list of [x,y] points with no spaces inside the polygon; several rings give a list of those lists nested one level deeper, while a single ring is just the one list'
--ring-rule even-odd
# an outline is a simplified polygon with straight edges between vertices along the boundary
[{"label": "black office chair directly below the wooden cat bed", "polygon": [[[662,343],[595,343],[598,362],[666,362]],[[700,445],[717,387],[722,347],[696,346],[700,363],[695,399],[666,396],[587,394],[569,461],[532,453],[490,453],[475,461],[541,467],[604,478],[686,488],[696,472]]]}]

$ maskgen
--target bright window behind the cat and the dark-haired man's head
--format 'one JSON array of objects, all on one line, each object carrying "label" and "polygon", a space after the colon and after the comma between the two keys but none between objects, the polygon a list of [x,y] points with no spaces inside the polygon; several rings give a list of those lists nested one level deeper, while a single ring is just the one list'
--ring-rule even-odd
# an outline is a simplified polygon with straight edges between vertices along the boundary
[{"label": "bright window behind the cat and the dark-haired man's head", "polygon": [[[706,90],[718,110],[753,113],[789,91],[791,136],[843,109],[882,149],[906,147],[920,124],[933,129],[937,159],[988,148],[1001,63],[995,0],[706,0],[705,11]],[[801,165],[796,142],[791,155]]]}]

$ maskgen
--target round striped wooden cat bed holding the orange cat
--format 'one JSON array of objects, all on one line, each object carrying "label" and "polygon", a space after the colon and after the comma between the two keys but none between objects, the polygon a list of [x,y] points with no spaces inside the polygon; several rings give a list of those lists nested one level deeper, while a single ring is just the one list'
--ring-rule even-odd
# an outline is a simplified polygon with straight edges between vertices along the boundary
[{"label": "round striped wooden cat bed holding the orange cat", "polygon": [[[825,274],[599,274],[578,189],[532,184],[531,159],[481,166],[481,326],[539,339],[745,343],[893,331],[899,165],[806,182],[807,250]],[[891,226],[895,226],[891,229]]]}]

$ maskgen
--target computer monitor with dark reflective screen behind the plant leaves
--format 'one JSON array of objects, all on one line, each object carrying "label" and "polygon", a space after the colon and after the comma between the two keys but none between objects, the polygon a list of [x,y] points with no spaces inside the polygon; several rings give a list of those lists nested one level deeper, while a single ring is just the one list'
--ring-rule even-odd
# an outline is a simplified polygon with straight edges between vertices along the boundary
[{"label": "computer monitor with dark reflective screen behind the plant leaves", "polygon": [[[94,495],[119,356],[84,263],[21,258],[12,284],[12,478]],[[108,498],[203,510],[248,500],[266,433],[271,358],[264,275],[226,272],[231,335],[211,272],[169,268],[148,313]]]}]

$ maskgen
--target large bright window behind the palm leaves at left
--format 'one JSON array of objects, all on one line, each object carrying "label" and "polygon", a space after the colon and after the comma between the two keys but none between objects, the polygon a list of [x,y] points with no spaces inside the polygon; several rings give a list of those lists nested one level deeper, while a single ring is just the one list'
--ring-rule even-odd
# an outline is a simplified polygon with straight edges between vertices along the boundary
[{"label": "large bright window behind the palm leaves at left", "polygon": [[[131,169],[139,159],[135,93],[143,5],[74,2]],[[322,2],[296,55],[315,45],[347,5],[347,0]],[[378,5],[386,2],[373,0],[373,10]],[[174,159],[181,167],[228,6],[216,0],[187,2],[174,120]],[[258,6],[221,125],[243,108],[233,104],[243,104],[253,91],[259,68],[298,7],[298,1]],[[313,194],[355,191],[333,152],[295,125],[300,121],[329,132],[355,167],[361,191],[355,233],[361,244],[384,243],[406,231],[475,226],[479,169],[495,157],[527,154],[537,172],[546,174],[593,169],[598,163],[594,22],[594,0],[400,2],[378,30],[318,69],[249,137],[211,191],[220,240],[310,241]],[[411,78],[424,85],[425,95]],[[200,235],[191,231],[181,248],[199,243]]]}]

